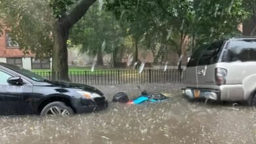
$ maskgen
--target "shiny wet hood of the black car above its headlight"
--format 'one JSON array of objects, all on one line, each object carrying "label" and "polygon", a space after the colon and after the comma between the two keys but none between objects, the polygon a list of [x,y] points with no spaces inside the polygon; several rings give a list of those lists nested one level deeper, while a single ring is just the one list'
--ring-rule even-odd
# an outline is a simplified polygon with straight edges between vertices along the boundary
[{"label": "shiny wet hood of the black car above its headlight", "polygon": [[98,88],[95,88],[93,86],[89,86],[86,84],[77,84],[77,83],[64,82],[64,81],[45,81],[45,82],[51,84],[51,86],[58,86],[60,88],[81,89],[81,90],[85,90],[87,92],[95,92],[97,94],[100,94],[101,96],[104,95],[102,92],[100,92],[100,90],[98,90]]}]

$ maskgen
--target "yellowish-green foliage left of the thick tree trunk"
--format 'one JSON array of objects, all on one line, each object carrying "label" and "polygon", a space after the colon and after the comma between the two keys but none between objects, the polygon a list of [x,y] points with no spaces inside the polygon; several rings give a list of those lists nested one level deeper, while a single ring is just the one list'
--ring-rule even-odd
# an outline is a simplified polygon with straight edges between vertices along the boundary
[{"label": "yellowish-green foliage left of the thick tree trunk", "polygon": [[0,15],[0,28],[7,27],[6,32],[24,52],[31,51],[37,58],[51,57],[53,18],[45,1],[3,0]]}]

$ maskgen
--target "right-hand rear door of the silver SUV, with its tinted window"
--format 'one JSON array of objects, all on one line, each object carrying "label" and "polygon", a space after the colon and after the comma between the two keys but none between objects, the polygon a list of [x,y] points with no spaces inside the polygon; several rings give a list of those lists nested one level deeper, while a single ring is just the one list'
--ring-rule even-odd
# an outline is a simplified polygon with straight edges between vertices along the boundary
[{"label": "right-hand rear door of the silver SUV, with its tinted window", "polygon": [[215,68],[222,46],[223,41],[218,41],[207,46],[202,52],[196,67],[198,85],[215,84]]}]

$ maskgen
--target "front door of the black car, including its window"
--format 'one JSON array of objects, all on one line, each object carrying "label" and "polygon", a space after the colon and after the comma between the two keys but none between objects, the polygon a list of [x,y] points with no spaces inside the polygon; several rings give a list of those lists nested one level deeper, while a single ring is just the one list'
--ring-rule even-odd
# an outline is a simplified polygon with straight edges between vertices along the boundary
[{"label": "front door of the black car, including its window", "polygon": [[7,79],[13,77],[10,73],[0,69],[0,115],[20,114],[20,92],[19,86],[13,86]]}]

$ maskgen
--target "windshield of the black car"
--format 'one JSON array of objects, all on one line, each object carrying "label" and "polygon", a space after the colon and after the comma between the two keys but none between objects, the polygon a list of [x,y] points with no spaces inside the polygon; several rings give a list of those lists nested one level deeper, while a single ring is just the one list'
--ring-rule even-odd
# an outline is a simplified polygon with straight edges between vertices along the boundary
[{"label": "windshield of the black car", "polygon": [[47,80],[44,77],[41,77],[40,75],[37,75],[37,74],[33,73],[32,71],[29,71],[27,69],[22,69],[20,67],[15,66],[15,65],[8,65],[6,67],[9,68],[9,69],[12,69],[12,71],[20,73],[21,75],[24,75],[25,77],[28,77],[28,78],[32,79],[33,81],[40,82],[40,81]]}]

